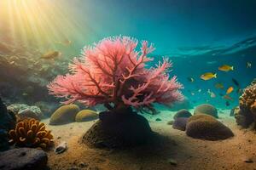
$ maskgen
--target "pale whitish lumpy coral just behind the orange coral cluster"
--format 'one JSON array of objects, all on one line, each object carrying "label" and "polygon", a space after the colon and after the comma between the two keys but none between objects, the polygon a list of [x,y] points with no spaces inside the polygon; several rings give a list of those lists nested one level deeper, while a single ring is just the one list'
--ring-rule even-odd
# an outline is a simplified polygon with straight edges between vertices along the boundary
[{"label": "pale whitish lumpy coral just behind the orange coral cluster", "polygon": [[7,107],[7,110],[14,112],[15,116],[17,117],[17,120],[22,120],[26,118],[34,118],[37,120],[41,120],[41,118],[43,118],[44,116],[40,108],[35,105],[29,106],[24,104],[14,104],[9,105]]}]

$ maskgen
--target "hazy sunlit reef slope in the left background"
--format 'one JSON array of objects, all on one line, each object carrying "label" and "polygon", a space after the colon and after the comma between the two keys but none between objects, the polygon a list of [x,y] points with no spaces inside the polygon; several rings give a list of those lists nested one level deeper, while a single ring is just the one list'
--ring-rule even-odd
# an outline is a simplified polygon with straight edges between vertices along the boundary
[{"label": "hazy sunlit reef slope in the left background", "polygon": [[[34,105],[35,101],[45,99],[49,102],[57,102],[48,94],[45,87],[49,79],[55,75],[63,74],[67,70],[69,59],[55,60],[55,64],[39,59],[42,51],[31,47],[24,47],[18,39],[15,42],[3,41],[9,47],[7,51],[0,53],[0,94],[8,105],[14,103],[26,103]],[[1,44],[0,44],[1,48]]]}]

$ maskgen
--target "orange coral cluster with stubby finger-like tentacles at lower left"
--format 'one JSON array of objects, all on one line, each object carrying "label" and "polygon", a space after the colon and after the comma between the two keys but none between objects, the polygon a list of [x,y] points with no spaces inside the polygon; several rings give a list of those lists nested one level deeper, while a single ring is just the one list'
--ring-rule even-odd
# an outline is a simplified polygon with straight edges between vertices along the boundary
[{"label": "orange coral cluster with stubby finger-like tentacles at lower left", "polygon": [[24,119],[9,131],[9,143],[18,146],[47,149],[53,144],[53,135],[36,119]]}]

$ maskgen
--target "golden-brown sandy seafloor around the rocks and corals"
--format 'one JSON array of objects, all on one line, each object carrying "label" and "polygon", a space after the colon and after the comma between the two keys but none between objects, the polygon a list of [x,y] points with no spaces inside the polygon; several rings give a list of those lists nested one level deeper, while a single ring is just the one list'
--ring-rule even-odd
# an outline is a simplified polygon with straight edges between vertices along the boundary
[{"label": "golden-brown sandy seafloor around the rocks and corals", "polygon": [[[193,110],[190,110],[193,113]],[[50,126],[49,119],[43,120],[55,136],[55,144],[67,141],[68,149],[60,155],[48,151],[50,169],[90,170],[256,170],[256,133],[236,125],[230,110],[218,110],[219,121],[231,128],[235,136],[220,141],[192,139],[185,132],[173,129],[167,122],[175,112],[161,111],[148,118],[154,132],[166,136],[167,142],[155,146],[140,146],[127,150],[91,149],[79,144],[79,139],[96,122],[73,122]],[[161,121],[155,121],[160,118]],[[177,161],[177,165],[169,160]],[[253,162],[246,162],[251,160]]]}]

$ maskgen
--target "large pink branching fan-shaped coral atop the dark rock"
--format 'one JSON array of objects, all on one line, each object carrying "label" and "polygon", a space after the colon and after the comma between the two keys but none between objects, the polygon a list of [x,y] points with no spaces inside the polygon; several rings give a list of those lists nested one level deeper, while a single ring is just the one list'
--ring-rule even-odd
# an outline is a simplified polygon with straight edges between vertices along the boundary
[{"label": "large pink branching fan-shaped coral atop the dark rock", "polygon": [[89,106],[104,104],[108,109],[120,105],[152,108],[153,102],[170,104],[183,99],[177,77],[169,79],[167,74],[172,63],[164,59],[147,69],[153,45],[143,41],[139,52],[136,48],[137,40],[130,37],[108,37],[84,48],[81,58],[73,59],[70,74],[49,83],[49,93],[66,98],[65,104],[79,101]]}]

